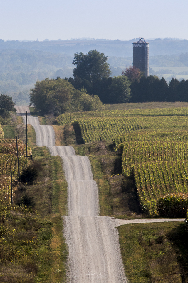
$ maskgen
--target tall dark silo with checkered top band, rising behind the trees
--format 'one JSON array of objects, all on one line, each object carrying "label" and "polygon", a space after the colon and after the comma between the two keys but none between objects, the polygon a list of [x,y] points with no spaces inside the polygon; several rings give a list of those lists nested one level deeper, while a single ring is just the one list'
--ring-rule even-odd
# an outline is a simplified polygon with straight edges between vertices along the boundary
[{"label": "tall dark silo with checkered top band, rising behind the trees", "polygon": [[149,76],[149,43],[145,39],[139,38],[137,42],[133,42],[133,63],[140,71],[144,72],[146,77]]}]

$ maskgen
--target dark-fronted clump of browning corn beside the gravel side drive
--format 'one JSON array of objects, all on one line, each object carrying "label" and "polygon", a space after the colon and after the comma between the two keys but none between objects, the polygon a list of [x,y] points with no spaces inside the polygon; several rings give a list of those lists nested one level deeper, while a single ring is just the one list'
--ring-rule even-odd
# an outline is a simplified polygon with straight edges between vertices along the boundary
[{"label": "dark-fronted clump of browning corn beside the gravel side drive", "polygon": [[169,194],[157,201],[157,211],[160,216],[184,218],[187,208],[188,194]]}]

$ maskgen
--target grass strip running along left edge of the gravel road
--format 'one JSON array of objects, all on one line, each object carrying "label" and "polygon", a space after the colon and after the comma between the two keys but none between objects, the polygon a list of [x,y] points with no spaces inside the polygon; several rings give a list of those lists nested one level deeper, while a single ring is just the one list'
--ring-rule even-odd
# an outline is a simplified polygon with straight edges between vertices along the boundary
[{"label": "grass strip running along left edge of the gravel road", "polygon": [[51,213],[44,219],[50,221],[50,241],[49,246],[38,252],[38,273],[36,282],[67,282],[66,259],[67,247],[63,237],[62,215],[67,215],[67,183],[62,169],[62,160],[59,156],[51,157],[46,147],[34,148],[35,159],[43,160],[48,164],[53,181],[53,191],[51,194]]}]

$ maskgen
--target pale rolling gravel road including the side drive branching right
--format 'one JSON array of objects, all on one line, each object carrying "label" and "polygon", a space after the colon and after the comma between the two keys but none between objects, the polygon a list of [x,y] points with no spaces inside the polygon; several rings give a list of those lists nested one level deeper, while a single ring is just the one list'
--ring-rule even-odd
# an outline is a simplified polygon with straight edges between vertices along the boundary
[{"label": "pale rolling gravel road including the side drive branching right", "polygon": [[[26,106],[17,106],[25,116]],[[25,121],[25,120],[24,120]],[[36,131],[37,145],[48,146],[51,155],[63,159],[68,182],[68,214],[64,235],[69,248],[70,283],[126,283],[116,226],[128,223],[183,221],[183,219],[126,219],[99,217],[98,187],[87,156],[76,156],[71,146],[54,146],[51,126],[40,126],[28,113]],[[52,128],[52,129],[51,129]]]}]

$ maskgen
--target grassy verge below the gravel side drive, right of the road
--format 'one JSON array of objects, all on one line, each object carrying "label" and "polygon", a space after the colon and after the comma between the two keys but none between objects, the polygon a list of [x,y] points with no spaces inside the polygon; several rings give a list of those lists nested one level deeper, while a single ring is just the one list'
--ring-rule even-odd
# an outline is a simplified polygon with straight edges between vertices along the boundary
[{"label": "grassy verge below the gravel side drive, right of the road", "polygon": [[183,223],[142,223],[117,227],[130,283],[188,282],[188,243]]}]

